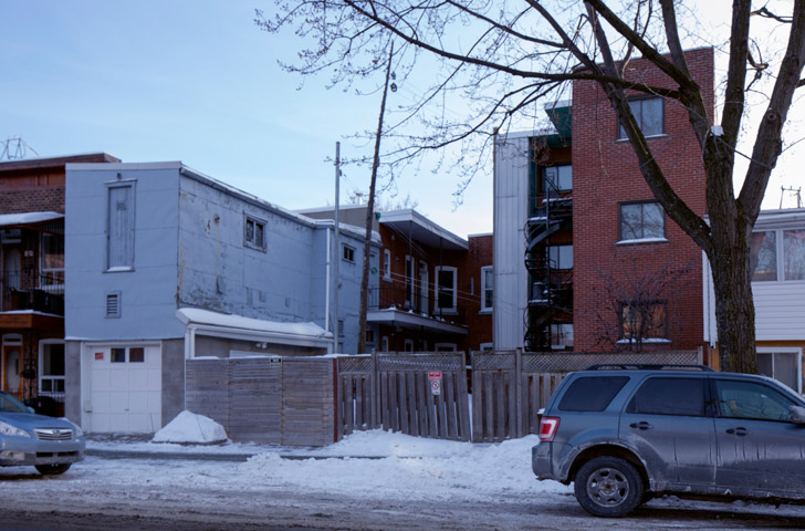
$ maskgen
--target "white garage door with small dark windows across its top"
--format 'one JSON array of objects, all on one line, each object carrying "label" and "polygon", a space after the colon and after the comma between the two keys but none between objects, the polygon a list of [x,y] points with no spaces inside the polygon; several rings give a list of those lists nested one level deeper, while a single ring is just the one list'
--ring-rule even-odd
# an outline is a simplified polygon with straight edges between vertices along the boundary
[{"label": "white garage door with small dark windows across its top", "polygon": [[85,351],[90,368],[88,431],[153,434],[161,427],[159,346],[105,346]]}]

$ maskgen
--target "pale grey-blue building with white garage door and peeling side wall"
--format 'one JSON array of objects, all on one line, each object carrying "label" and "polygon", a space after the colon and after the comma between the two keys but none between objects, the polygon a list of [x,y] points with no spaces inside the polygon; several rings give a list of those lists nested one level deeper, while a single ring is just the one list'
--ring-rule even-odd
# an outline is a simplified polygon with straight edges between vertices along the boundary
[{"label": "pale grey-blue building with white garage door and peeling side wall", "polygon": [[153,433],[185,407],[186,360],[354,353],[363,229],[341,249],[334,229],[181,163],[67,165],[66,416]]}]

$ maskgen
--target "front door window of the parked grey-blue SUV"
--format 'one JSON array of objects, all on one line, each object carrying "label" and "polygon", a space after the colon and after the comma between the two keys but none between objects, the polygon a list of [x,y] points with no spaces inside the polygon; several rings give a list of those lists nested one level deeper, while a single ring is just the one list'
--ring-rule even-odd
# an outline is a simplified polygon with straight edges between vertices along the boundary
[{"label": "front door window of the parked grey-blue SUV", "polygon": [[736,379],[717,379],[715,394],[722,417],[788,420],[794,402],[767,385]]}]

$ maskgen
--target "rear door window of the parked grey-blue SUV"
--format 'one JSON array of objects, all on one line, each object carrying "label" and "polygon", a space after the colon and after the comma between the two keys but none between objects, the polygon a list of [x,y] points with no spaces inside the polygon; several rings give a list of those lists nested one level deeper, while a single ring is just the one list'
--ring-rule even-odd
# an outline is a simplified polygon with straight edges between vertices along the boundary
[{"label": "rear door window of the parked grey-blue SUV", "polygon": [[628,413],[704,416],[704,378],[649,378],[635,394]]}]

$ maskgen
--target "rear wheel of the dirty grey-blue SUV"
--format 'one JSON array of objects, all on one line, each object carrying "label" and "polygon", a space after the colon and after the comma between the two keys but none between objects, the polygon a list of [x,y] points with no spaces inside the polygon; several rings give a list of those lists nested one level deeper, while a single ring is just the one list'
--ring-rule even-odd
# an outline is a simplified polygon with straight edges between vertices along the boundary
[{"label": "rear wheel of the dirty grey-blue SUV", "polygon": [[635,467],[617,457],[596,457],[582,466],[574,485],[576,500],[593,516],[623,517],[642,501]]}]

